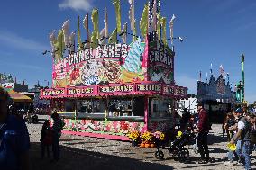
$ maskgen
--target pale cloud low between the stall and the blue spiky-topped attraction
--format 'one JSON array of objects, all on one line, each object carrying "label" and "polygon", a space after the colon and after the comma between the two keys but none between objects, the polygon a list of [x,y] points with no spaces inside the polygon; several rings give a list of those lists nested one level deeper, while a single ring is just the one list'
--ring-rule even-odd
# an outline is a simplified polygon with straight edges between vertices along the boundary
[{"label": "pale cloud low between the stall and the blue spiky-topped attraction", "polygon": [[197,94],[197,79],[187,75],[177,75],[175,77],[176,85],[188,88],[188,93]]}]

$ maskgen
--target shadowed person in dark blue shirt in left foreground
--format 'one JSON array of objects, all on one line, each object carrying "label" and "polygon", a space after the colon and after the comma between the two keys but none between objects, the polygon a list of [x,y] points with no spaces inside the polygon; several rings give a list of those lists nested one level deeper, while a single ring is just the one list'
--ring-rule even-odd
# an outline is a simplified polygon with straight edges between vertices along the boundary
[{"label": "shadowed person in dark blue shirt in left foreground", "polygon": [[30,138],[25,122],[8,112],[9,94],[0,87],[0,169],[28,170]]}]

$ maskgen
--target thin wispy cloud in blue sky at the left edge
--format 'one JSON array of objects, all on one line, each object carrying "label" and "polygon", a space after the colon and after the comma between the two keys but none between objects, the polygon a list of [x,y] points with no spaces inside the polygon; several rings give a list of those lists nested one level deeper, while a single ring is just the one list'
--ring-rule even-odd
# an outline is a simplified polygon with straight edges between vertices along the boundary
[{"label": "thin wispy cloud in blue sky at the left edge", "polygon": [[40,51],[50,49],[50,46],[46,46],[35,40],[23,38],[10,31],[1,31],[1,30],[0,30],[0,44],[3,44],[4,46],[8,46],[14,49],[40,50]]}]

